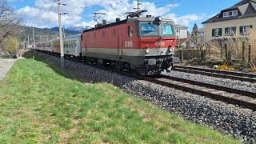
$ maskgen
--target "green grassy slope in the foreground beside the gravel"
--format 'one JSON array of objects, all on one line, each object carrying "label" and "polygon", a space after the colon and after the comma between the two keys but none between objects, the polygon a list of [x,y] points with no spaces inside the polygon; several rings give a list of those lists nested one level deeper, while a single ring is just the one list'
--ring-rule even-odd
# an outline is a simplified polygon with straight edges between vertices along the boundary
[{"label": "green grassy slope in the foreground beside the gravel", "polygon": [[33,59],[0,82],[0,143],[239,143],[106,83]]}]

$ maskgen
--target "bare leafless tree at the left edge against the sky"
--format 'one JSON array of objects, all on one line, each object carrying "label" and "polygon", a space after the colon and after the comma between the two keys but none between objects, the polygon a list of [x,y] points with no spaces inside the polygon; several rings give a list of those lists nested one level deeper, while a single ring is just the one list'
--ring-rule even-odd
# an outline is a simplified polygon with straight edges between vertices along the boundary
[{"label": "bare leafless tree at the left edge against the sky", "polygon": [[0,46],[6,39],[18,34],[18,25],[21,22],[14,14],[14,10],[6,5],[6,2],[0,0]]}]

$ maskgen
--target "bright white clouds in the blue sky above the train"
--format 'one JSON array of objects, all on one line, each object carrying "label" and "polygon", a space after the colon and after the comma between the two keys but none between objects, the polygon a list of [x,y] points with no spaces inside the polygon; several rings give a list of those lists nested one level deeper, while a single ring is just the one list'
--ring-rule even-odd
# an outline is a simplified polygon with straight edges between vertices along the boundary
[{"label": "bright white clouds in the blue sky above the train", "polygon": [[[54,0],[35,0],[34,6],[26,6],[17,10],[18,14],[24,18],[25,25],[30,26],[57,26],[58,14],[57,3]],[[104,19],[108,22],[114,22],[115,18],[126,18],[126,12],[134,11],[137,2],[132,3],[129,0],[62,0],[67,6],[62,6],[62,13],[68,13],[62,16],[62,24],[65,26],[94,26],[95,22],[82,19],[82,12],[88,6],[101,6],[102,10],[93,12],[106,13]],[[174,19],[182,25],[188,26],[190,22],[194,22],[203,18],[202,14],[188,14],[177,17],[176,14],[170,13],[170,10],[178,6],[171,3],[166,6],[158,7],[154,2],[142,2],[142,10],[148,10],[146,14],[154,16],[163,16]],[[92,13],[93,13],[92,12]],[[145,14],[145,15],[146,15]]]}]

